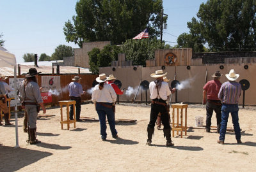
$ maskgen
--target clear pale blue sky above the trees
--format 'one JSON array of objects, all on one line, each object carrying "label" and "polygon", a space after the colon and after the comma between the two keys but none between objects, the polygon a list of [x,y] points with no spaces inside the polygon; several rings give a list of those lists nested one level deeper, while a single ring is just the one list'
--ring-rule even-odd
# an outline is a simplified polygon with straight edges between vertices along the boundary
[{"label": "clear pale blue sky above the trees", "polygon": [[[15,54],[17,63],[24,62],[26,53],[52,55],[58,45],[79,48],[67,43],[63,27],[76,15],[77,0],[0,0],[0,33],[4,48]],[[199,6],[206,0],[164,0],[168,15],[163,40],[176,45],[177,37],[189,32],[187,22],[196,17]],[[138,33],[139,34],[139,33]],[[136,35],[134,35],[136,36]]]}]

